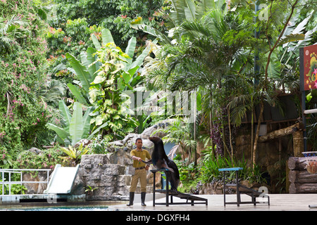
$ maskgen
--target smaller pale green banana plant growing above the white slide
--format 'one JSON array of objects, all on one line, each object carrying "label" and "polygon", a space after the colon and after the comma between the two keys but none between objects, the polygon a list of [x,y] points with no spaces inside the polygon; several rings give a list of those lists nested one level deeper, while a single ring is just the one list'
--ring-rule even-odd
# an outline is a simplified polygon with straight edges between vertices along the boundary
[{"label": "smaller pale green banana plant growing above the white slide", "polygon": [[82,139],[87,139],[90,131],[90,113],[93,112],[94,107],[87,108],[85,115],[82,116],[82,104],[75,102],[73,105],[73,115],[64,103],[58,102],[58,108],[63,116],[63,127],[58,127],[54,124],[47,123],[46,127],[54,130],[58,136],[57,141],[66,146],[75,146],[75,143]]}]

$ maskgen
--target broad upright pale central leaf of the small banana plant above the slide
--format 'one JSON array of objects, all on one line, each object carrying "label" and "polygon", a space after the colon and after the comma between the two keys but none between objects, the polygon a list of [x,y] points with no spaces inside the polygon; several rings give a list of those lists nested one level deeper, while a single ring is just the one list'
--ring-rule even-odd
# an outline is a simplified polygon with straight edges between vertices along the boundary
[{"label": "broad upright pale central leaf of the small banana plant above the slide", "polygon": [[70,120],[69,134],[72,138],[72,145],[74,146],[75,143],[82,139],[82,105],[75,102],[73,109],[74,111],[72,120]]}]

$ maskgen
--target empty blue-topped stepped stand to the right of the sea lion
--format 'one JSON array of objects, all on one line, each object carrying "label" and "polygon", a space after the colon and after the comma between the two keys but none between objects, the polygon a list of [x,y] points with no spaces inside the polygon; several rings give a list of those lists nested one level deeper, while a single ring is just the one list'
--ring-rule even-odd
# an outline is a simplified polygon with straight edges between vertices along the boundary
[{"label": "empty blue-topped stepped stand to the right of the sea lion", "polygon": [[[242,170],[242,167],[232,167],[232,168],[223,168],[223,169],[218,169],[219,171],[223,172],[223,201],[224,205],[226,204],[237,204],[237,206],[240,206],[240,204],[254,204],[256,203],[263,203],[264,201],[256,201],[256,198],[267,198],[268,199],[268,205],[270,205],[270,197],[266,195],[265,193],[255,191],[254,189],[248,188],[246,186],[243,186],[239,184],[239,177],[238,177],[238,172]],[[230,172],[230,171],[235,171],[235,176],[236,176],[236,184],[225,184],[225,172]],[[225,201],[225,187],[234,189],[237,193],[237,202],[226,202]],[[241,193],[244,193],[246,195],[249,195],[251,197],[250,202],[242,202],[241,201]]]}]

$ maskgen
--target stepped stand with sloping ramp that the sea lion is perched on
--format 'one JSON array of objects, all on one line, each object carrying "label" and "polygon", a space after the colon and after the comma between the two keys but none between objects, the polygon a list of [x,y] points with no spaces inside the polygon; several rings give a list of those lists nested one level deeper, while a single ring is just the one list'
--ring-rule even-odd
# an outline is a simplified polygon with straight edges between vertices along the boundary
[{"label": "stepped stand with sloping ramp that the sea lion is perched on", "polygon": [[[194,205],[194,204],[205,204],[208,205],[208,200],[206,198],[200,198],[198,196],[195,195],[189,195],[186,193],[180,193],[179,191],[173,191],[173,190],[169,190],[168,188],[168,181],[169,181],[169,177],[168,174],[166,173],[166,171],[168,171],[168,169],[152,169],[150,170],[153,173],[154,176],[154,184],[153,184],[153,206],[155,205]],[[166,189],[155,189],[155,174],[156,172],[164,172],[166,174]],[[155,203],[155,193],[165,193],[166,194],[166,202],[165,203]],[[170,200],[168,200],[168,197],[170,196]],[[173,202],[173,197],[178,197],[180,199],[185,199],[186,202],[182,202],[182,203],[174,203]],[[190,201],[190,202],[189,202]],[[199,201],[199,202],[197,202]]]}]

